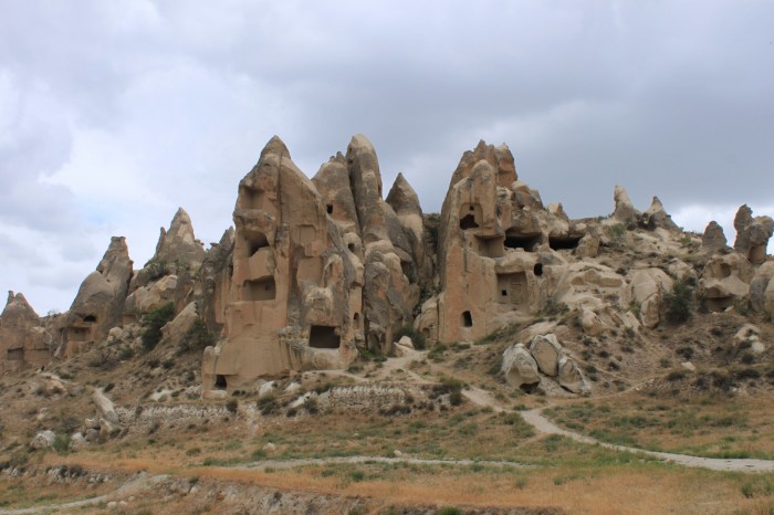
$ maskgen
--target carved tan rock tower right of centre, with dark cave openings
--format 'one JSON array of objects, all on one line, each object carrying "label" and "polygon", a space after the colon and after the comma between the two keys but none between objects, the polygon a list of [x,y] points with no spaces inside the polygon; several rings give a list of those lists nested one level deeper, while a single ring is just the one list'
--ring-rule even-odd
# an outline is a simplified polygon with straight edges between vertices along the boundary
[{"label": "carved tan rock tower right of centre, with dark cave openings", "polygon": [[425,303],[420,325],[435,325],[441,341],[471,340],[502,325],[503,316],[534,315],[546,295],[544,266],[552,252],[577,246],[584,235],[577,229],[561,204],[544,208],[540,193],[519,180],[505,145],[480,141],[462,156],[443,201],[442,292]]}]

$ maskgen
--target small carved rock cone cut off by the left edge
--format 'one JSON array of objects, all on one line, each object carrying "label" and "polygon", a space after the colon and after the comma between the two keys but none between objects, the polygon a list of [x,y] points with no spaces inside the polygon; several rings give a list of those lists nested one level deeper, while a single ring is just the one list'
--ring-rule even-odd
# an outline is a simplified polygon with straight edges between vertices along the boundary
[{"label": "small carved rock cone cut off by the left edge", "polygon": [[0,375],[45,367],[51,361],[53,339],[21,293],[8,292],[0,315]]}]

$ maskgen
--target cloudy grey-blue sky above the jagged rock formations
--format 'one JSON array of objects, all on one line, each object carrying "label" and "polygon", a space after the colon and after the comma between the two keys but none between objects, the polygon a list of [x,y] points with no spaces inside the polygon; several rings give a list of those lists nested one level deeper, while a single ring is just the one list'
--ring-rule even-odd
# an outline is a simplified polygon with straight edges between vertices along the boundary
[{"label": "cloudy grey-blue sky above the jagged rock formations", "polygon": [[505,143],[572,218],[620,183],[733,243],[774,216],[773,92],[770,0],[0,0],[0,290],[65,311],[178,207],[209,246],[273,135],[311,177],[365,134],[426,212]]}]

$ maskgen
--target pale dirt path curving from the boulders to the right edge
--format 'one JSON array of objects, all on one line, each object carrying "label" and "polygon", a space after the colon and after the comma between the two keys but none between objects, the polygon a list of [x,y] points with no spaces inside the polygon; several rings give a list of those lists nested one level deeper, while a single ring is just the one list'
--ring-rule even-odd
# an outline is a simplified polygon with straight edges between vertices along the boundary
[{"label": "pale dirt path curving from the boulders to the right edge", "polygon": [[[492,398],[489,392],[480,388],[471,388],[466,390],[462,395],[478,406],[490,407],[494,411],[506,411],[511,412]],[[648,456],[658,458],[671,463],[677,463],[683,466],[692,466],[698,469],[709,469],[712,471],[731,471],[731,472],[774,472],[774,461],[772,460],[750,460],[750,459],[722,459],[722,458],[700,458],[700,456],[689,456],[687,454],[674,454],[671,452],[657,452],[657,451],[646,451],[644,449],[630,448],[626,445],[615,445],[613,443],[600,442],[592,437],[586,437],[566,429],[562,429],[551,420],[543,417],[541,411],[543,408],[530,410],[530,411],[517,411],[522,416],[524,421],[535,428],[535,430],[543,434],[561,434],[576,442],[589,443],[593,445],[599,445],[605,449],[610,449],[613,451],[619,452],[631,452],[645,454]]]}]

